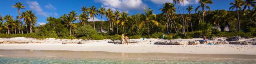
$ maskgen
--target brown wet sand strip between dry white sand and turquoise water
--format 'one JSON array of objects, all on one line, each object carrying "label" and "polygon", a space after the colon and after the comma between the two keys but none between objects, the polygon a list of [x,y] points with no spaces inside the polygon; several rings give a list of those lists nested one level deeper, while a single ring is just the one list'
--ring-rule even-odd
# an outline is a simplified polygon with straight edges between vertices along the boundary
[{"label": "brown wet sand strip between dry white sand and turquoise water", "polygon": [[0,50],[0,57],[11,58],[81,58],[108,60],[183,60],[183,61],[248,61],[255,62],[256,55],[242,54],[171,54],[171,53],[115,53],[50,50]]}]

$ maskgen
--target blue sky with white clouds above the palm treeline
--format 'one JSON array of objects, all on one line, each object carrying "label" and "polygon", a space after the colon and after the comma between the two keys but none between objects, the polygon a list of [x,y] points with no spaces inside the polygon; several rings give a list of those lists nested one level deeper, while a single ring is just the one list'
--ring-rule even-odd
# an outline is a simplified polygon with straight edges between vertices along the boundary
[{"label": "blue sky with white clouds above the palm treeline", "polygon": [[[230,2],[234,0],[212,0],[213,4],[208,4],[211,10],[229,10]],[[60,18],[61,15],[68,14],[72,10],[81,14],[82,6],[95,6],[97,9],[100,7],[111,8],[111,10],[126,11],[129,15],[144,13],[145,8],[151,8],[154,14],[161,13],[160,8],[163,7],[165,2],[173,2],[172,0],[2,0],[0,2],[0,13],[2,16],[11,15],[13,18],[18,16],[17,8],[13,8],[15,2],[22,2],[25,9],[20,10],[24,12],[26,10],[32,10],[38,17],[37,25],[46,24],[47,17]],[[187,13],[186,8],[191,5],[195,9],[200,4],[198,0],[184,0],[184,13]],[[175,5],[178,12],[178,6]],[[201,10],[202,8],[200,8]],[[180,4],[180,10],[182,12],[182,4]],[[192,11],[194,13],[194,10]],[[77,14],[77,15],[78,15]],[[101,20],[100,16],[94,18],[94,20]],[[107,20],[104,16],[103,20]],[[92,18],[89,20],[92,21]]]}]

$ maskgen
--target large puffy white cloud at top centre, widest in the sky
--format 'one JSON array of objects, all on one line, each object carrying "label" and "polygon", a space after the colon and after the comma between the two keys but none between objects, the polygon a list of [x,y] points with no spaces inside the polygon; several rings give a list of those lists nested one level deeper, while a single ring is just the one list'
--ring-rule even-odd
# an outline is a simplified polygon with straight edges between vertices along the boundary
[{"label": "large puffy white cloud at top centre, widest in the sky", "polygon": [[100,2],[104,7],[117,8],[121,10],[134,10],[143,9],[147,7],[142,0],[94,0],[95,2]]}]

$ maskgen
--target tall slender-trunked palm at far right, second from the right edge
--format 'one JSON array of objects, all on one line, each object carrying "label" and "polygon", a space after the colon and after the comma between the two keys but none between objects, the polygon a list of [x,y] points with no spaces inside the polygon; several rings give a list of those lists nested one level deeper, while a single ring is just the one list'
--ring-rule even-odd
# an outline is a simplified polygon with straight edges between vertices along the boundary
[{"label": "tall slender-trunked palm at far right, second from the right edge", "polygon": [[242,8],[242,6],[244,5],[245,3],[244,3],[244,1],[242,1],[242,0],[235,0],[235,2],[234,3],[230,3],[230,5],[232,5],[230,8],[229,8],[229,10],[234,10],[234,8],[236,8],[236,12],[237,12],[237,18],[238,18],[238,26],[239,26],[239,28],[238,28],[238,31],[240,30],[240,20],[239,20],[239,10],[241,10],[241,8]]}]

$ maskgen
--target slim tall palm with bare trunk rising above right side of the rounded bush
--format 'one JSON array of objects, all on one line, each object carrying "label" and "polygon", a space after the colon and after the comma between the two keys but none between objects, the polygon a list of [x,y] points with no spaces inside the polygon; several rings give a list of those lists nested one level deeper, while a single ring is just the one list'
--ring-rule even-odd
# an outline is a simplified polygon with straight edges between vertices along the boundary
[{"label": "slim tall palm with bare trunk rising above right side of the rounded bush", "polygon": [[96,15],[98,15],[98,13],[97,13],[97,10],[96,10],[96,8],[95,8],[94,6],[92,6],[92,7],[89,8],[89,9],[90,9],[90,10],[89,10],[89,12],[87,12],[87,13],[89,14],[90,18],[92,18],[92,20],[93,20],[93,26],[94,26],[94,29],[95,29],[94,17],[97,18]]}]

